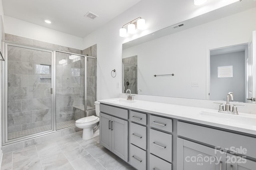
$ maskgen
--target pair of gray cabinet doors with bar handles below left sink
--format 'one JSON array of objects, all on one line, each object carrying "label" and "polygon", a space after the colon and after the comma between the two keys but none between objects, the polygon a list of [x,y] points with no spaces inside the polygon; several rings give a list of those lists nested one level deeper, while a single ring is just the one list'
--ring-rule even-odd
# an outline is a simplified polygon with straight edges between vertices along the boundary
[{"label": "pair of gray cabinet doors with bar handles below left sink", "polygon": [[100,144],[128,162],[128,121],[100,113]]}]

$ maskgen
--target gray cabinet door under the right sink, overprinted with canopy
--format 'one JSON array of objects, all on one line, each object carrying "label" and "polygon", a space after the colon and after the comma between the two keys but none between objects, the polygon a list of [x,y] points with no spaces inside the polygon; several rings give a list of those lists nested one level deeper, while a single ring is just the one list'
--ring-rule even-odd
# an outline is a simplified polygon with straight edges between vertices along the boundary
[{"label": "gray cabinet door under the right sink, overprinted with canopy", "polygon": [[226,153],[177,138],[177,170],[226,170]]}]

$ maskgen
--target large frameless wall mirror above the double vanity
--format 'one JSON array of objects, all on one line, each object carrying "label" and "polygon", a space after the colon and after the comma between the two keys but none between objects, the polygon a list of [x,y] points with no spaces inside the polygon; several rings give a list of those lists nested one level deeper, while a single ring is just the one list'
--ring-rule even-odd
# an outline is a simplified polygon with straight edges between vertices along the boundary
[{"label": "large frameless wall mirror above the double vanity", "polygon": [[123,93],[255,103],[255,17],[242,0],[124,43]]}]

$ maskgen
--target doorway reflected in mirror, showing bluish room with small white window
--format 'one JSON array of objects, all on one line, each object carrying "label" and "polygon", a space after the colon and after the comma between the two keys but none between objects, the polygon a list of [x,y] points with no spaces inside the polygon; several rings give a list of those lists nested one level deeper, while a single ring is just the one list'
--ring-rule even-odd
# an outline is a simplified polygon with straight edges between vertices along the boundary
[{"label": "doorway reflected in mirror, showing bluish room with small white window", "polygon": [[210,51],[210,99],[226,101],[232,91],[234,101],[246,102],[246,60],[248,44]]}]

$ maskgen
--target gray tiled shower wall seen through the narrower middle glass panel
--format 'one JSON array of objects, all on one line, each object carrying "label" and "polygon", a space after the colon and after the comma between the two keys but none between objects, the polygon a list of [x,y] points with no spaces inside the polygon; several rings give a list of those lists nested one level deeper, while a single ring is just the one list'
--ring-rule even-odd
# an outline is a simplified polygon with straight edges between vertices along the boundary
[{"label": "gray tiled shower wall seen through the narrower middle glass panel", "polygon": [[[69,56],[56,52],[56,123],[84,117],[84,111],[74,107],[84,105],[84,57],[74,61]],[[61,59],[67,63],[58,63]]]}]

